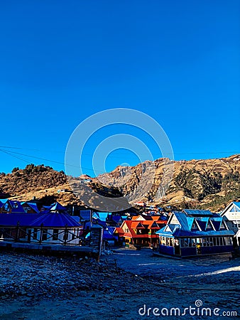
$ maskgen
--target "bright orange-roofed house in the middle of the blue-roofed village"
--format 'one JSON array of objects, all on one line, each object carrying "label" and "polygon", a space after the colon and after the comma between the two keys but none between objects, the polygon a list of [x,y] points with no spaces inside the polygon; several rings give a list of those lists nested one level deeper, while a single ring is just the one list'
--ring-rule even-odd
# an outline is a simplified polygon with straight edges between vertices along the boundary
[{"label": "bright orange-roofed house in the middle of the blue-roofed village", "polygon": [[121,227],[115,228],[114,235],[118,236],[119,243],[126,247],[158,247],[156,232],[163,228],[167,220],[160,216],[148,216],[148,220],[138,215],[133,220],[125,220]]}]

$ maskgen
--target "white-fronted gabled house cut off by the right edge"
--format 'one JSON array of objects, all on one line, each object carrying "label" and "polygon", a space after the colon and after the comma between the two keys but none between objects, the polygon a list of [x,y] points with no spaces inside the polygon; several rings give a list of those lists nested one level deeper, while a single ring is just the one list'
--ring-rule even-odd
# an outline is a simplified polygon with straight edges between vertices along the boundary
[{"label": "white-fronted gabled house cut off by the right edge", "polygon": [[240,246],[240,202],[231,202],[221,216],[230,230],[234,231],[234,245]]}]

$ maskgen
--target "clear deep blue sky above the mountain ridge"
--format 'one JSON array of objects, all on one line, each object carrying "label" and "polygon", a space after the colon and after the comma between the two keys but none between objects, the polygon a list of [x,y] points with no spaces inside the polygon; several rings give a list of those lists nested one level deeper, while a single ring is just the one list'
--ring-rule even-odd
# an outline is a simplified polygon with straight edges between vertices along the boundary
[{"label": "clear deep blue sky above the mountain ridge", "polygon": [[[239,153],[239,7],[238,0],[1,1],[1,150],[10,154],[1,151],[0,171],[27,162],[64,169],[75,127],[119,107],[156,119],[177,160]],[[89,169],[91,146],[82,159]],[[138,159],[116,151],[107,170],[124,162]]]}]

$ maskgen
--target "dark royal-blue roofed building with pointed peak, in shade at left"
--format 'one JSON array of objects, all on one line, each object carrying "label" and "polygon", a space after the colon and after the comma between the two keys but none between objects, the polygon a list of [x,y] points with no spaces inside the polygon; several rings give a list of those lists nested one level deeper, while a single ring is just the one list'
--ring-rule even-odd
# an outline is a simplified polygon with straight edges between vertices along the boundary
[{"label": "dark royal-blue roofed building with pointed peak, in shade at left", "polygon": [[78,245],[82,225],[60,203],[48,213],[1,213],[0,240]]}]

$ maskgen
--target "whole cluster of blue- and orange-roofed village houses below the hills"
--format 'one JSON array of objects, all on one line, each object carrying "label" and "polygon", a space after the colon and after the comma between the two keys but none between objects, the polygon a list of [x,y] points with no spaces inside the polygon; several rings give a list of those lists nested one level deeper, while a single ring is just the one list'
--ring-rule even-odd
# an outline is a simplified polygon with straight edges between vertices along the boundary
[{"label": "whole cluster of blue- and orange-roofed village houses below the hills", "polygon": [[92,230],[97,228],[104,247],[151,247],[163,256],[227,253],[240,245],[239,202],[230,203],[222,213],[196,209],[167,213],[144,203],[138,206],[139,213],[80,210],[70,215],[60,203],[39,206],[37,201],[1,199],[0,247],[6,242],[91,245]]}]

